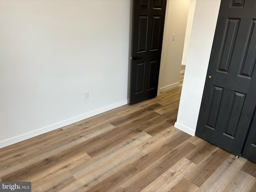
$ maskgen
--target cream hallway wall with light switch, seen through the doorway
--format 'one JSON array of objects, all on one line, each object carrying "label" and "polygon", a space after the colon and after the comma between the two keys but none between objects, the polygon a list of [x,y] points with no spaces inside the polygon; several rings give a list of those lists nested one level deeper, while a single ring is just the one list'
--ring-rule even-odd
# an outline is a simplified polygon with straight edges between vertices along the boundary
[{"label": "cream hallway wall with light switch, seen through the doorway", "polygon": [[189,4],[190,0],[167,0],[158,93],[179,85]]}]

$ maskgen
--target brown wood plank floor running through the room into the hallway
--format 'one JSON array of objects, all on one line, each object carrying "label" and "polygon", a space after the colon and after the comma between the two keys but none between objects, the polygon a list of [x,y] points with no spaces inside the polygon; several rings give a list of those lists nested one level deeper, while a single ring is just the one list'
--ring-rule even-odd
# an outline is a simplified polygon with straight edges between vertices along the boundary
[{"label": "brown wood plank floor running through the room into the hallway", "polygon": [[0,149],[33,192],[256,192],[256,164],[176,128],[180,86]]}]

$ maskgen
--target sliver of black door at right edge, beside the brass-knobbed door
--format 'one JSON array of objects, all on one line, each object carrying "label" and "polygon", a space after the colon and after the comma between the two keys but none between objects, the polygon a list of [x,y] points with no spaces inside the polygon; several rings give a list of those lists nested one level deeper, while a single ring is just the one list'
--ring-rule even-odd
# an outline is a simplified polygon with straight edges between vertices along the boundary
[{"label": "sliver of black door at right edge, beside the brass-knobbed door", "polygon": [[254,112],[254,117],[246,138],[242,156],[256,163],[256,112]]}]

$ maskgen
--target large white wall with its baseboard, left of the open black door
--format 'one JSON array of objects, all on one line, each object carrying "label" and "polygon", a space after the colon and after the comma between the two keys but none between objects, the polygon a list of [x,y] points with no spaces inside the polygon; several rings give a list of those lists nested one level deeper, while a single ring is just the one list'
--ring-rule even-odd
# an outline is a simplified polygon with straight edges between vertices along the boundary
[{"label": "large white wall with its baseboard, left of the open black door", "polygon": [[0,1],[0,148],[127,104],[130,8]]}]

